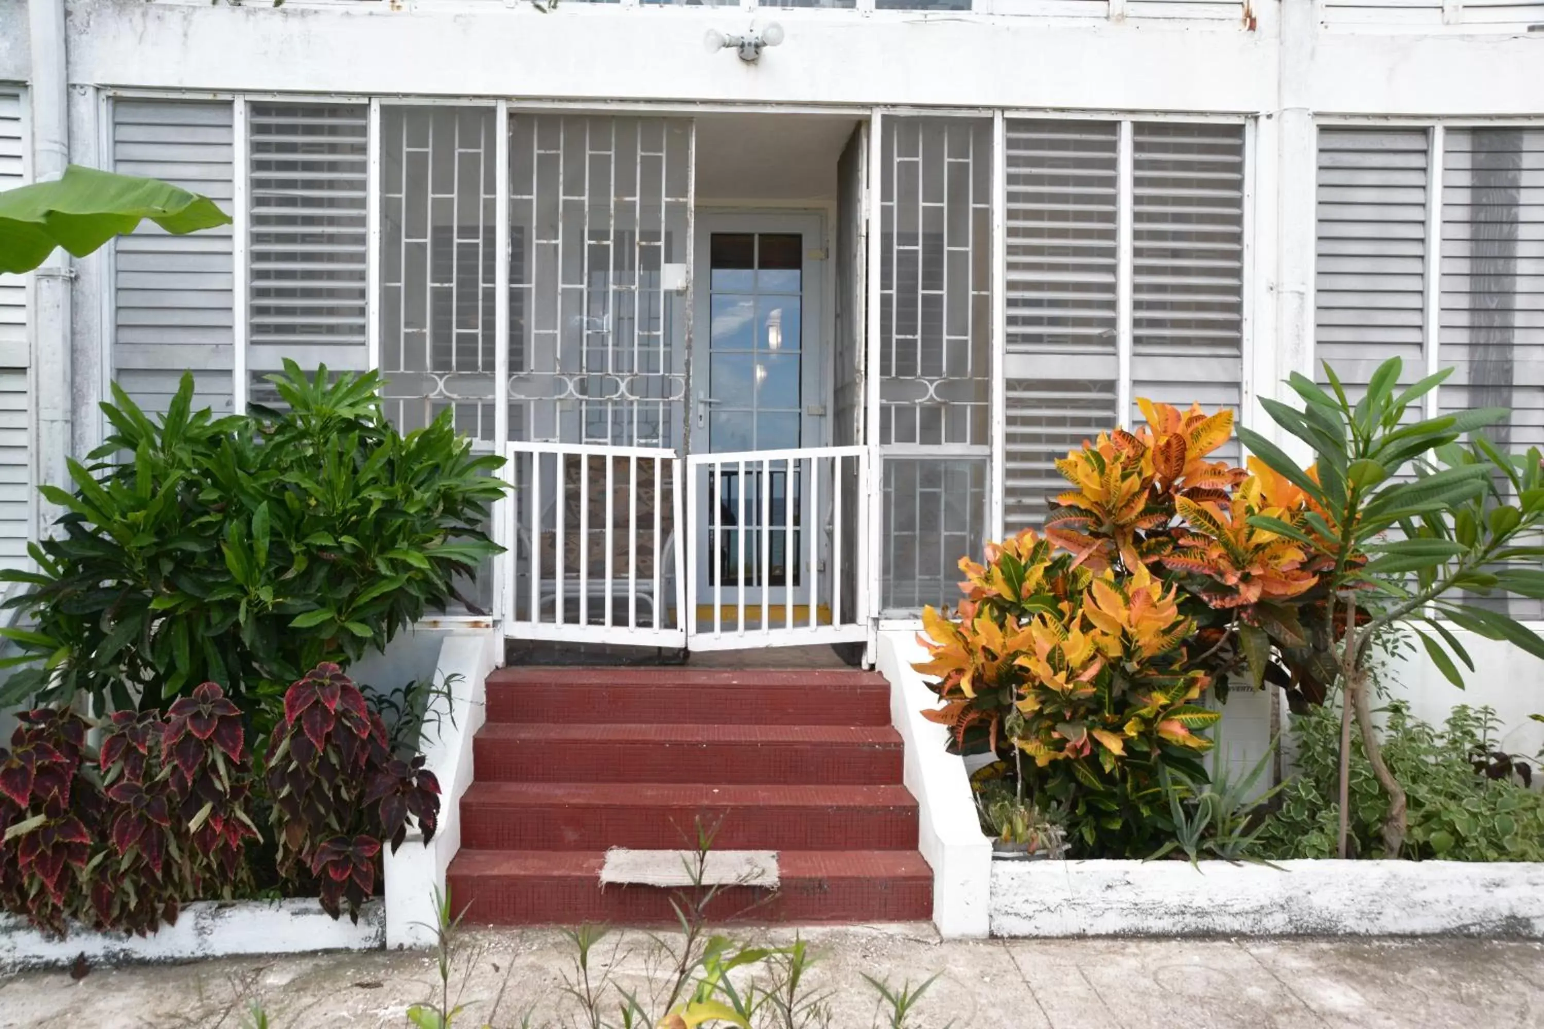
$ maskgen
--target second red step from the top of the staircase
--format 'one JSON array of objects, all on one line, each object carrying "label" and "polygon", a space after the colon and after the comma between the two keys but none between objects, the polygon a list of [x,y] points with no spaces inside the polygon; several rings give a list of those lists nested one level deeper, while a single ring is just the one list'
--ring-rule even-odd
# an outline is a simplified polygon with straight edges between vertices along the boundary
[{"label": "second red step from the top of the staircase", "polygon": [[900,782],[888,725],[542,725],[488,722],[483,782]]}]

